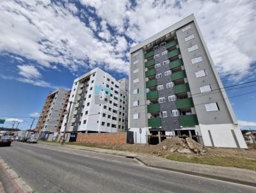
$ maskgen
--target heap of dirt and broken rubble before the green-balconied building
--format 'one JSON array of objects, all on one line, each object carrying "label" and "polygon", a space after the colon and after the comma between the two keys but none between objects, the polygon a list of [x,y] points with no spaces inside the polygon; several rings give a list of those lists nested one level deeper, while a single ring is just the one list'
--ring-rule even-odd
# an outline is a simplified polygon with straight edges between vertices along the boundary
[{"label": "heap of dirt and broken rubble before the green-balconied building", "polygon": [[161,148],[158,154],[175,152],[206,154],[206,148],[191,138],[180,139],[179,137],[173,137],[164,139],[164,141],[157,144],[157,146]]}]

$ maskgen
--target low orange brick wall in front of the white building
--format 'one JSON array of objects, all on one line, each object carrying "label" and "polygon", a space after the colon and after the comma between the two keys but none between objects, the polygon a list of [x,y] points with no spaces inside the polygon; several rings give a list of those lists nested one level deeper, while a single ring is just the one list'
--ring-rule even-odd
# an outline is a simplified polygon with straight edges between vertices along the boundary
[{"label": "low orange brick wall in front of the white building", "polygon": [[125,133],[77,134],[76,143],[125,144]]}]

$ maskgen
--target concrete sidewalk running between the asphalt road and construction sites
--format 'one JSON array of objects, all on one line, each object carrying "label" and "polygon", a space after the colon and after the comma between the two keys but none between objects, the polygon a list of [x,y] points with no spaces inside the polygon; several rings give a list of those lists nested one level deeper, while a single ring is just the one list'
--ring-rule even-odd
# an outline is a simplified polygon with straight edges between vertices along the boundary
[{"label": "concrete sidewalk running between the asphalt road and construction sites", "polygon": [[[51,146],[61,146],[58,143],[44,143],[38,142],[40,144],[47,144]],[[241,183],[244,185],[251,185],[256,187],[256,171],[249,169],[239,169],[236,167],[222,167],[222,166],[210,166],[204,164],[193,164],[186,162],[177,162],[173,160],[168,160],[163,157],[156,157],[149,154],[133,153],[129,151],[117,151],[108,150],[102,148],[91,148],[86,146],[77,146],[65,144],[63,148],[72,148],[76,150],[86,150],[93,151],[97,153],[108,153],[111,155],[120,155],[124,157],[132,157],[140,160],[143,164],[148,167],[155,167],[158,169],[165,169],[169,171],[175,171],[179,173],[192,174],[195,176],[204,176],[207,178],[213,178],[216,180],[230,181],[234,183]]]}]

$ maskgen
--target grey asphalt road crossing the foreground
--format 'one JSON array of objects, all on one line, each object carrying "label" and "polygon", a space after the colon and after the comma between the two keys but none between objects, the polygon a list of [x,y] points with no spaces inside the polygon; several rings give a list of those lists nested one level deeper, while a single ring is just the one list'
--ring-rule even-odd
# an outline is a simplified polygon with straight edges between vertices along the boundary
[{"label": "grey asphalt road crossing the foreground", "polygon": [[131,158],[15,142],[0,157],[36,192],[256,192],[256,188],[145,167]]}]

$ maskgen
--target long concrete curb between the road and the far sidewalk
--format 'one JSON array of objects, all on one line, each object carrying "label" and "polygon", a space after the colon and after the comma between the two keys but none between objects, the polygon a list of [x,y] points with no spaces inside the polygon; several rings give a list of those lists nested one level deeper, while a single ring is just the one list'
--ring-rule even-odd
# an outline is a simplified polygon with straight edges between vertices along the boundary
[{"label": "long concrete curb between the road and the far sidewalk", "polygon": [[[46,145],[50,145],[50,146],[58,146],[58,145],[54,145],[54,144],[47,144],[47,143],[39,143],[39,144],[46,144]],[[61,147],[61,146],[58,146]],[[69,148],[69,149],[73,149],[73,150],[83,150],[83,149],[79,149],[79,148],[72,148],[72,147],[67,147],[67,146],[63,146],[65,148]],[[99,148],[100,149],[100,148]],[[175,168],[170,168],[170,167],[163,167],[163,166],[156,166],[156,165],[151,165],[151,164],[147,164],[146,162],[144,162],[143,160],[141,160],[141,158],[138,158],[138,156],[136,155],[132,155],[127,153],[126,155],[124,153],[108,153],[108,152],[100,152],[97,150],[83,150],[83,151],[91,151],[91,152],[95,152],[95,153],[104,153],[104,154],[108,154],[108,155],[118,155],[118,156],[122,156],[122,157],[127,157],[127,158],[134,158],[136,160],[138,160],[139,162],[141,162],[142,164],[144,164],[147,167],[152,167],[152,168],[156,168],[156,169],[163,169],[166,171],[173,171],[173,172],[177,172],[177,173],[182,173],[182,174],[189,174],[189,175],[193,175],[193,176],[199,176],[199,177],[204,177],[204,178],[209,178],[209,179],[214,179],[214,180],[221,180],[221,181],[228,181],[231,183],[239,183],[241,185],[248,185],[248,186],[252,186],[252,187],[256,187],[256,182],[251,182],[251,181],[243,181],[243,180],[237,180],[234,178],[226,178],[223,176],[214,176],[211,174],[202,174],[202,173],[195,173],[193,171],[185,171],[182,169],[175,169]]]}]

